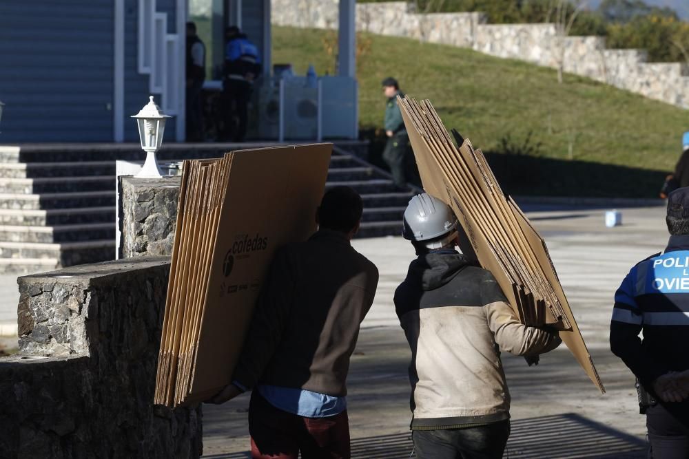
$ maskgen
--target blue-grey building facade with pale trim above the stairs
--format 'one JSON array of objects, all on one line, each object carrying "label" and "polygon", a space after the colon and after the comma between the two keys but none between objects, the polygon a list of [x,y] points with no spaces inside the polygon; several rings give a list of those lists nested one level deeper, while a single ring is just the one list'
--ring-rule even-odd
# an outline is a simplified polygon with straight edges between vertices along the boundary
[{"label": "blue-grey building facade with pale trim above the stairs", "polygon": [[[339,75],[319,78],[322,84],[307,100],[303,91],[291,95],[298,80],[280,89],[271,75],[270,0],[3,0],[0,100],[6,107],[0,143],[136,142],[130,116],[149,95],[175,117],[167,124],[165,141],[185,140],[185,23],[199,15],[205,15],[203,26],[212,37],[206,43],[209,90],[220,88],[225,27],[240,26],[262,51],[263,86],[256,91],[259,135],[289,138],[290,107],[311,103],[317,114],[302,125],[312,122],[318,128],[297,126],[294,131],[322,138],[332,127],[334,137],[356,138],[354,0],[340,0],[340,12]],[[269,119],[266,107],[273,107],[274,100],[281,108]],[[348,108],[342,111],[344,123],[341,114],[333,118],[327,108],[343,102]]]}]

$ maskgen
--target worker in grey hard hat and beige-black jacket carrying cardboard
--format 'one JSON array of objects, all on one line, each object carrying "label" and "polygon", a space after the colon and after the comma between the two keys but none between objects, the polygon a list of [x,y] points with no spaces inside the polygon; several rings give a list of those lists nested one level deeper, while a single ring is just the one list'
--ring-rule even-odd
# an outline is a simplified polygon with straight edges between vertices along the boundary
[{"label": "worker in grey hard hat and beige-black jacket carrying cardboard", "polygon": [[411,347],[412,438],[420,459],[502,458],[510,396],[500,351],[551,351],[555,332],[520,323],[493,275],[455,250],[457,218],[423,193],[409,201],[403,233],[418,258],[395,291]]}]

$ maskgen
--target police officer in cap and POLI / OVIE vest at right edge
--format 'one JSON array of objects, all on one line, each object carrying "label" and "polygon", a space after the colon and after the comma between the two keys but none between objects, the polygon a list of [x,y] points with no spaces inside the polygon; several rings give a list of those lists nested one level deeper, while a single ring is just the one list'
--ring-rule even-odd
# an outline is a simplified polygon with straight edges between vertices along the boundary
[{"label": "police officer in cap and POLI / OVIE vest at right edge", "polygon": [[[610,350],[637,377],[655,458],[689,458],[689,188],[668,196],[670,241],[634,266],[615,293]],[[639,338],[643,332],[643,339]]]}]

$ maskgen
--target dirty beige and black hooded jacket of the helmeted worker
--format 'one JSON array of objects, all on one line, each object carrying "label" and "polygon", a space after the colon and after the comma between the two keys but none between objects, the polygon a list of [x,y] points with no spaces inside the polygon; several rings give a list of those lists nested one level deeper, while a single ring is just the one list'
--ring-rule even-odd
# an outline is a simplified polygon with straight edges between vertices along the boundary
[{"label": "dirty beige and black hooded jacket of the helmeted worker", "polygon": [[454,250],[412,261],[395,309],[411,346],[412,429],[508,419],[500,350],[538,354],[560,343],[555,334],[522,325],[493,275]]}]

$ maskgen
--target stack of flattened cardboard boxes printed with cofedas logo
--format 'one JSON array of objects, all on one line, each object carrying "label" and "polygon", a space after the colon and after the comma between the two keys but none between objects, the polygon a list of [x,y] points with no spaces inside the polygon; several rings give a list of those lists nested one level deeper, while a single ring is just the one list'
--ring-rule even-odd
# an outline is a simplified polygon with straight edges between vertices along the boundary
[{"label": "stack of flattened cardboard boxes printed with cofedas logo", "polygon": [[316,230],[331,144],[186,161],[155,403],[174,407],[230,383],[276,248]]}]

